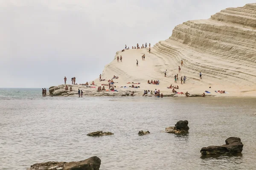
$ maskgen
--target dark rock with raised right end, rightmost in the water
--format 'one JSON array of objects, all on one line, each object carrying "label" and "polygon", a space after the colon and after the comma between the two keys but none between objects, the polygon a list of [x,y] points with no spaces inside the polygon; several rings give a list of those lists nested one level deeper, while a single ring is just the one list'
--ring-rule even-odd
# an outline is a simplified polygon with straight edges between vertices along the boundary
[{"label": "dark rock with raised right end, rightmost in the water", "polygon": [[240,138],[230,137],[225,142],[226,144],[221,146],[202,147],[200,152],[202,155],[236,154],[242,152],[244,145]]}]

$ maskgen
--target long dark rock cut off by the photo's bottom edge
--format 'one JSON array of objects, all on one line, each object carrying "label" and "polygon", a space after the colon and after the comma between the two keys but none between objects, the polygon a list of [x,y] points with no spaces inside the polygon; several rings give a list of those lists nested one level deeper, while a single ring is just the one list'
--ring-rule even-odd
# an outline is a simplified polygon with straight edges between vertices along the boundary
[{"label": "long dark rock cut off by the photo's bottom edge", "polygon": [[101,160],[97,156],[77,162],[45,162],[33,164],[27,170],[99,170]]}]

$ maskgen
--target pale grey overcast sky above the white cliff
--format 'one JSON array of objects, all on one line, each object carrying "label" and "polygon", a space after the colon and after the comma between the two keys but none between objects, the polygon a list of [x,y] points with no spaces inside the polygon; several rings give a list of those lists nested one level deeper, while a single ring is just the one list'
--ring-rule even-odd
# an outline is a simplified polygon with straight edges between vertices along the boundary
[{"label": "pale grey overcast sky above the white cliff", "polygon": [[0,88],[96,79],[124,48],[253,0],[0,0]]}]

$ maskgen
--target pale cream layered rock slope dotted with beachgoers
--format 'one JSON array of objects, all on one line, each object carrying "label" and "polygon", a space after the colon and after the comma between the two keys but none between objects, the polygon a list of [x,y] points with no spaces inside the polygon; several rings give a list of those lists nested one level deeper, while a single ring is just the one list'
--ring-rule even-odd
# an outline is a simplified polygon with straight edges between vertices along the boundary
[{"label": "pale cream layered rock slope dotted with beachgoers", "polygon": [[[118,76],[119,79],[114,79],[114,82],[118,82],[115,83],[116,89],[121,92],[134,90],[143,93],[144,90],[157,89],[168,95],[172,92],[167,87],[175,84],[180,86],[178,92],[188,91],[190,94],[210,91],[217,96],[256,96],[255,47],[256,3],[253,3],[227,8],[208,20],[193,20],[178,25],[169,39],[151,45],[151,54],[145,48],[117,52],[115,59],[105,66],[102,79]],[[145,61],[141,58],[143,54]],[[123,62],[117,62],[116,57],[121,55]],[[178,73],[181,59],[183,67]],[[167,77],[164,77],[166,69]],[[203,79],[199,78],[200,71]],[[186,76],[186,84],[181,85],[180,81],[174,83],[175,74],[179,74],[179,79]],[[147,80],[151,79],[160,80],[160,85],[148,85]],[[94,81],[96,85],[107,84],[107,81],[99,82],[99,78]],[[120,88],[127,86],[127,82],[140,82],[140,88]],[[79,87],[84,88],[78,85],[73,89]],[[229,94],[214,92],[218,90]],[[96,89],[87,91],[90,94]]]}]

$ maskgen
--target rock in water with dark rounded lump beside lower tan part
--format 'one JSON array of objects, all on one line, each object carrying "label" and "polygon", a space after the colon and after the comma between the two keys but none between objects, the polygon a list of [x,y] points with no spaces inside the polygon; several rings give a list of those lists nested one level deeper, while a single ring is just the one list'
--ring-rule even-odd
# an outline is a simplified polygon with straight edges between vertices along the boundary
[{"label": "rock in water with dark rounded lump beside lower tan part", "polygon": [[166,133],[189,133],[189,122],[187,120],[180,120],[175,126],[166,127]]}]

